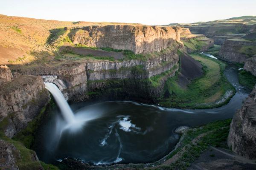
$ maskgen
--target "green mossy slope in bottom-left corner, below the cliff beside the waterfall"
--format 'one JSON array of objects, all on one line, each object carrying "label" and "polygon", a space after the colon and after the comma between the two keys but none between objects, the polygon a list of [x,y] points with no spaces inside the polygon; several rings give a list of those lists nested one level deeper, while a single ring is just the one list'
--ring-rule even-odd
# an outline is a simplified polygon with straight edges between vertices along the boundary
[{"label": "green mossy slope in bottom-left corner, below the cliff beside the waterfall", "polygon": [[45,164],[42,161],[38,161],[35,151],[31,150],[34,144],[36,130],[41,125],[41,119],[45,116],[46,108],[51,108],[49,106],[54,105],[53,103],[54,102],[51,100],[47,107],[42,108],[41,113],[32,122],[29,122],[25,129],[17,133],[13,139],[5,136],[3,132],[3,130],[9,126],[8,119],[12,117],[12,114],[9,114],[8,117],[0,122],[0,139],[9,144],[13,144],[17,149],[15,153],[12,154],[15,159],[15,165],[17,165],[20,170],[39,170],[42,168],[44,168],[44,170],[58,170],[58,167],[52,164]]}]

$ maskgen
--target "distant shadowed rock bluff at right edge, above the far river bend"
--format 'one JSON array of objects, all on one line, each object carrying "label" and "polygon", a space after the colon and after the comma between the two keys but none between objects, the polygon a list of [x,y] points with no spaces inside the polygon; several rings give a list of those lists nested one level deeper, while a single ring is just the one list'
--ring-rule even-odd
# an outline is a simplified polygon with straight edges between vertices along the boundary
[{"label": "distant shadowed rock bluff at right edge, above the far river bend", "polygon": [[[226,61],[244,63],[250,58],[250,51],[256,47],[256,42],[244,39],[226,40],[219,51],[218,56]],[[247,54],[248,53],[248,54]]]}]

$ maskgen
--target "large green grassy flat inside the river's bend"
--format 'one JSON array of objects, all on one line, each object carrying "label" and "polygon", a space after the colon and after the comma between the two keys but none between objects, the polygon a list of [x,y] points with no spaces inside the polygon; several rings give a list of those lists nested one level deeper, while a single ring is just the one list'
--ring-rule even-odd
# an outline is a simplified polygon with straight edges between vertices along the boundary
[{"label": "large green grassy flat inside the river's bend", "polygon": [[165,94],[159,99],[160,105],[175,108],[211,108],[228,90],[235,91],[223,72],[225,64],[219,60],[193,54],[192,57],[203,65],[204,75],[194,79],[187,88],[178,84],[177,75],[167,80]]}]

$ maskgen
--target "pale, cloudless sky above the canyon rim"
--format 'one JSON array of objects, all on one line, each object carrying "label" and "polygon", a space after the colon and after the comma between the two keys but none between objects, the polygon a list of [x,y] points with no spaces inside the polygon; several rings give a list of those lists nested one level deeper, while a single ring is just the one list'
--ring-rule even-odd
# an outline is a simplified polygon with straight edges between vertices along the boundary
[{"label": "pale, cloudless sky above the canyon rim", "polygon": [[0,0],[0,14],[165,25],[256,16],[256,0]]}]

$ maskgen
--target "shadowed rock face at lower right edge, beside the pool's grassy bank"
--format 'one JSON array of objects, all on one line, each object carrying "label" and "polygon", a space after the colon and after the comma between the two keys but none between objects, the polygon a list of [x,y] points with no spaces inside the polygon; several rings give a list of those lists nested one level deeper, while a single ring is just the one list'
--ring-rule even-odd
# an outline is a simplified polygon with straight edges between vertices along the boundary
[{"label": "shadowed rock face at lower right edge, beside the pool's grassy bank", "polygon": [[256,159],[256,86],[233,117],[228,145],[235,153]]}]

